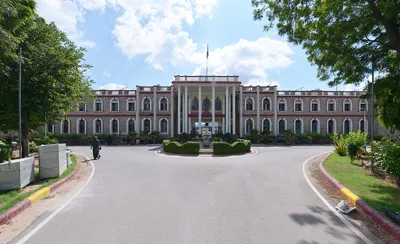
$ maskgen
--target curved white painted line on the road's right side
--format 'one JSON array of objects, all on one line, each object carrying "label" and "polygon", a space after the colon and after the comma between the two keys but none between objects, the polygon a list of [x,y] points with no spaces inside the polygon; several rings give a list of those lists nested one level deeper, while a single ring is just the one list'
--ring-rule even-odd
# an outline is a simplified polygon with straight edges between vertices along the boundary
[{"label": "curved white painted line on the road's right side", "polygon": [[324,155],[326,153],[328,153],[328,152],[321,153],[321,154],[318,154],[317,156],[311,157],[311,158],[307,159],[303,163],[303,175],[304,175],[304,178],[306,179],[308,185],[310,185],[311,189],[315,192],[315,194],[317,194],[317,196],[329,208],[329,210],[331,210],[347,227],[349,227],[349,229],[352,230],[354,232],[354,234],[358,235],[365,243],[374,244],[363,233],[361,233],[356,227],[354,227],[354,225],[352,223],[350,223],[345,217],[340,215],[340,213],[338,213],[336,211],[336,209],[334,209],[332,207],[332,205],[321,195],[321,193],[318,192],[317,188],[315,188],[315,186],[313,186],[313,184],[311,183],[310,179],[308,179],[307,174],[306,174],[306,165],[307,165],[308,161],[310,161],[310,160],[312,160],[312,159],[314,159],[316,157],[319,157],[321,155]]}]

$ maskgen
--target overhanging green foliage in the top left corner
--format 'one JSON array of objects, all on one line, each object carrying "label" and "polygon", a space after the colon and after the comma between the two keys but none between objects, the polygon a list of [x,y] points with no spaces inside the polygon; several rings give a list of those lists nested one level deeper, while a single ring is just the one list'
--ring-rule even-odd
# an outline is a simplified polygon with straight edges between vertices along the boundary
[{"label": "overhanging green foliage in the top left corner", "polygon": [[34,0],[0,1],[0,73],[7,73],[5,63],[17,60],[15,51],[26,37],[24,30],[29,28],[34,9]]}]

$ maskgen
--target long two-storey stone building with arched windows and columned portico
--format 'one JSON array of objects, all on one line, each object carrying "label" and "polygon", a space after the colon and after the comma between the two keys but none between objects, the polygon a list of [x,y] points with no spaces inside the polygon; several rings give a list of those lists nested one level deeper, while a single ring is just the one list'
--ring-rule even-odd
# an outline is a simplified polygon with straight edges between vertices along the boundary
[{"label": "long two-storey stone building with arched windows and columned portico", "polygon": [[[170,86],[136,90],[96,90],[59,124],[56,134],[129,134],[158,131],[175,137],[193,130],[250,134],[253,129],[281,134],[349,133],[398,135],[369,121],[371,106],[361,91],[278,91],[276,86],[243,86],[238,76],[175,76]],[[201,125],[201,126],[199,126]]]}]

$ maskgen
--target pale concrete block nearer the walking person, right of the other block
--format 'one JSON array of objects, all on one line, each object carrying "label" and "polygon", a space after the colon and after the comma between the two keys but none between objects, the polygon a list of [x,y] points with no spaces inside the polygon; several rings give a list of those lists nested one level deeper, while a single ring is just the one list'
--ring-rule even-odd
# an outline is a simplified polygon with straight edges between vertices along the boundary
[{"label": "pale concrete block nearer the walking person, right of the other block", "polygon": [[57,178],[67,169],[65,144],[43,145],[39,149],[40,179]]}]

